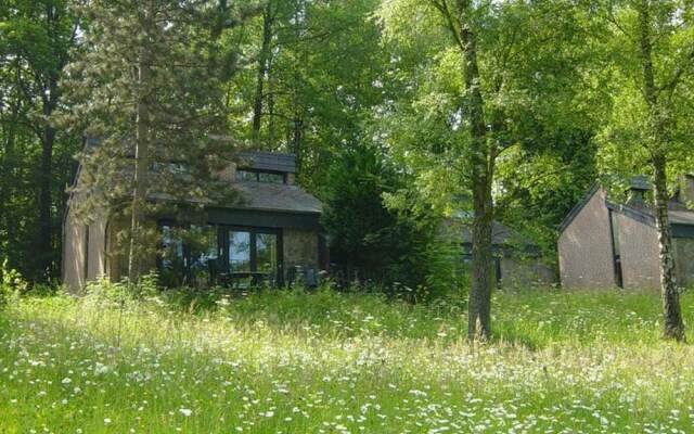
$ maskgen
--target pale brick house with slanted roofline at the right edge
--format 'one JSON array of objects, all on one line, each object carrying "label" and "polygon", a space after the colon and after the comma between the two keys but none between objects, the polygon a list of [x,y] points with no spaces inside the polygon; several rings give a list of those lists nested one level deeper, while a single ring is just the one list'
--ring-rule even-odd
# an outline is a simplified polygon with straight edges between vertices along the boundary
[{"label": "pale brick house with slanted roofline at the right edge", "polygon": [[[682,180],[668,204],[678,282],[694,282],[694,179]],[[558,238],[562,286],[657,289],[658,239],[644,177],[631,180],[624,200],[593,186],[562,222]]]}]

